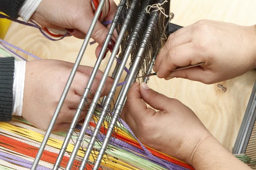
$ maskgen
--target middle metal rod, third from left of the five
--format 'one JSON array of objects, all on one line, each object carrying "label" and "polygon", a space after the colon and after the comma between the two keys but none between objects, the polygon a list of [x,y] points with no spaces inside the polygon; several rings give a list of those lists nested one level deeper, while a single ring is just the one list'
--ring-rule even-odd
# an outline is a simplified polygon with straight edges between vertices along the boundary
[{"label": "middle metal rod, third from left of the five", "polygon": [[[134,0],[131,3],[131,6],[130,6],[129,10],[134,9],[136,7],[137,7],[137,0]],[[122,38],[125,35],[126,29],[128,28],[129,19],[131,18],[132,14],[133,13],[128,11],[127,17],[125,18],[125,20],[127,20],[127,22],[124,22],[124,24],[122,25],[122,28],[121,28],[120,33],[119,33],[119,37],[116,40],[116,44],[115,44],[115,46],[113,48],[113,51],[112,51],[111,56],[110,56],[110,59],[109,59],[108,64],[107,64],[107,66],[105,68],[105,71],[104,71],[104,74],[102,76],[102,79],[101,79],[101,81],[99,83],[99,87],[96,90],[96,94],[95,94],[95,96],[93,98],[93,101],[92,101],[92,103],[90,105],[90,108],[88,110],[87,116],[86,116],[86,118],[84,120],[84,124],[83,124],[83,126],[82,126],[82,128],[80,130],[78,139],[76,141],[76,144],[75,144],[75,147],[73,149],[73,152],[71,153],[71,156],[70,156],[70,159],[69,159],[69,161],[67,163],[67,168],[66,169],[70,169],[72,167],[73,161],[76,158],[76,154],[77,154],[77,152],[79,150],[79,147],[80,147],[80,144],[81,144],[81,142],[83,140],[83,137],[84,137],[84,134],[86,132],[86,129],[87,129],[89,123],[90,123],[90,119],[93,116],[93,113],[95,111],[97,102],[98,102],[98,100],[100,98],[102,89],[103,89],[103,87],[105,85],[106,79],[107,79],[108,74],[109,74],[109,72],[111,70],[111,66],[113,65],[113,61],[115,60],[117,51],[119,51],[119,46],[120,46],[120,44],[122,42]]]}]

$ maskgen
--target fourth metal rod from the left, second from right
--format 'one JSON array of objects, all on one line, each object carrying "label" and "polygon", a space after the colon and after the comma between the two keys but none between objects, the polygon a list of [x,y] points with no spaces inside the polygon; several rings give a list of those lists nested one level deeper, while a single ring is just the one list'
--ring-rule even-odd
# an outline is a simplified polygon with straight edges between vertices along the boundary
[{"label": "fourth metal rod from the left, second from right", "polygon": [[89,156],[90,156],[90,153],[91,151],[93,150],[93,146],[96,142],[96,139],[97,139],[97,136],[99,134],[99,130],[102,126],[102,123],[104,122],[104,119],[105,119],[105,116],[106,114],[108,113],[109,111],[109,108],[111,107],[111,101],[113,99],[113,96],[116,92],[116,88],[117,88],[117,85],[119,83],[119,80],[122,76],[122,73],[124,71],[124,68],[125,68],[125,65],[128,61],[128,58],[131,54],[131,50],[132,48],[134,47],[134,42],[138,39],[138,31],[142,30],[143,29],[143,26],[142,24],[145,22],[146,20],[146,13],[145,13],[145,8],[146,6],[148,6],[150,4],[151,0],[146,0],[144,3],[143,3],[143,11],[140,12],[140,14],[138,15],[138,19],[137,19],[137,22],[136,22],[136,26],[134,27],[134,31],[132,32],[131,34],[131,39],[129,40],[129,44],[128,44],[128,47],[126,48],[126,51],[125,51],[125,55],[122,57],[122,62],[121,62],[121,65],[119,65],[119,68],[118,68],[118,71],[117,71],[117,74],[116,74],[116,77],[114,79],[114,82],[113,82],[113,85],[111,87],[111,90],[108,94],[108,96],[106,97],[106,101],[105,101],[105,104],[103,106],[103,109],[102,109],[102,113],[99,117],[99,120],[96,124],[96,127],[93,131],[93,135],[91,136],[91,139],[90,139],[90,142],[89,144],[87,145],[87,150],[84,154],[84,158],[83,160],[81,161],[81,165],[80,165],[80,168],[79,170],[84,170],[85,168],[85,165],[89,159]]}]

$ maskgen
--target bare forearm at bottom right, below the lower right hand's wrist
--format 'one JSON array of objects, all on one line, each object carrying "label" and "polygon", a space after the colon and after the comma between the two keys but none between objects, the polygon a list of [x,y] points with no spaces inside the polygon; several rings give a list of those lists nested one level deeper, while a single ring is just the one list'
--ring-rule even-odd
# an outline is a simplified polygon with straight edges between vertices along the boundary
[{"label": "bare forearm at bottom right, below the lower right hand's wrist", "polygon": [[214,137],[209,137],[199,144],[190,164],[196,170],[251,170]]}]

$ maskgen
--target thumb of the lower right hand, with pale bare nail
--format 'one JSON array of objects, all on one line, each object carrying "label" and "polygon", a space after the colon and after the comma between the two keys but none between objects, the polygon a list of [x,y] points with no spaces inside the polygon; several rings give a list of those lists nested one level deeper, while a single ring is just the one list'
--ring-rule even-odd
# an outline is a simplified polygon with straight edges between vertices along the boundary
[{"label": "thumb of the lower right hand, with pale bare nail", "polygon": [[148,105],[159,111],[167,110],[171,102],[169,97],[152,90],[145,82],[140,84],[140,95]]}]

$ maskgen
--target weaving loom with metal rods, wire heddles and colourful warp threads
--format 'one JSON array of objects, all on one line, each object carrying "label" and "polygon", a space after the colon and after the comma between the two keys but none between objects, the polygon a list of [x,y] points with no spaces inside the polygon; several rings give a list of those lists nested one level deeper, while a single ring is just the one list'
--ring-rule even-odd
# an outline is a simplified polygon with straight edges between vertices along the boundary
[{"label": "weaving loom with metal rods, wire heddles and colourful warp threads", "polygon": [[[102,16],[101,11],[104,4],[105,0],[102,0],[95,5],[95,17],[47,133],[45,134],[44,131],[33,127],[21,117],[13,117],[12,121],[8,123],[0,122],[0,169],[193,170],[193,167],[189,164],[140,143],[128,125],[122,119],[119,119],[128,89],[135,81],[134,77],[151,72],[155,57],[166,39],[166,29],[168,30],[167,26],[173,17],[169,13],[170,4],[168,1],[120,1],[68,132],[51,133],[84,50],[89,43],[91,32],[96,21]],[[8,18],[6,16],[2,17]],[[21,21],[18,22],[22,23]],[[40,27],[33,21],[29,24],[29,26],[39,28],[41,33],[50,40],[56,40],[56,37],[61,40],[70,35],[68,32],[52,34],[51,31],[54,30]],[[82,122],[77,122],[81,108],[87,102],[87,96],[91,94],[91,85],[114,30],[117,30],[119,37],[116,40],[116,45],[113,48],[98,90],[92,104],[89,105],[87,117]],[[1,42],[6,43],[3,40]],[[12,47],[15,48],[13,45]],[[121,53],[117,55],[119,48]],[[10,51],[17,59],[18,57],[22,58],[3,44],[0,49]],[[5,53],[1,57],[10,56],[9,54],[5,55]],[[125,65],[129,58],[131,58],[131,62],[128,69]],[[116,60],[116,65],[112,75],[115,79],[113,86],[108,96],[100,100],[100,91],[102,91],[114,60]],[[126,72],[126,78],[124,82],[120,82],[123,71]],[[148,82],[148,78],[142,81]],[[113,101],[118,86],[122,86],[122,88],[117,100]]]}]

